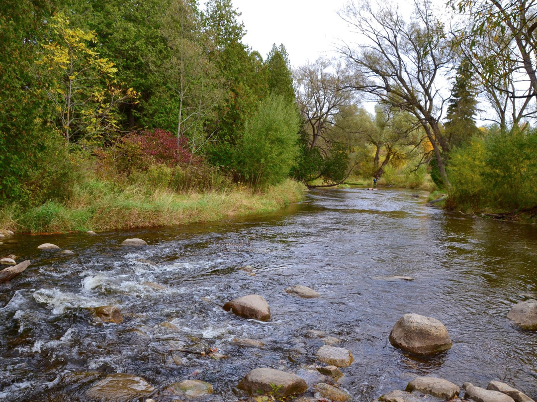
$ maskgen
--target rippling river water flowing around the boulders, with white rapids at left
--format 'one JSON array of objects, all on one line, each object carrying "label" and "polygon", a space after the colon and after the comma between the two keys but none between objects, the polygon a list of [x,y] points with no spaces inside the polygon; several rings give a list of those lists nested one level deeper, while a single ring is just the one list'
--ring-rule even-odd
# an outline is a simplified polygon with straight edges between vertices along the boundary
[{"label": "rippling river water flowing around the boulders, with white rapids at left", "polygon": [[[314,190],[286,211],[240,220],[3,239],[1,256],[32,264],[0,285],[0,401],[84,401],[114,372],[157,390],[200,379],[215,389],[205,400],[234,401],[253,368],[309,378],[323,345],[311,329],[353,354],[339,383],[354,401],[404,389],[418,375],[485,387],[498,379],[537,398],[537,333],[506,318],[537,293],[537,228],[446,213],[425,206],[425,197]],[[133,237],[149,246],[120,246]],[[76,255],[38,251],[43,242]],[[256,276],[237,270],[246,264]],[[415,280],[379,278],[394,275]],[[322,297],[284,292],[296,284]],[[269,322],[222,310],[252,293],[269,303]],[[118,306],[124,321],[95,324],[88,307],[101,305]],[[452,349],[424,358],[392,347],[391,328],[409,312],[442,321]],[[235,338],[264,346],[241,347]],[[227,358],[173,351],[189,348]]]}]

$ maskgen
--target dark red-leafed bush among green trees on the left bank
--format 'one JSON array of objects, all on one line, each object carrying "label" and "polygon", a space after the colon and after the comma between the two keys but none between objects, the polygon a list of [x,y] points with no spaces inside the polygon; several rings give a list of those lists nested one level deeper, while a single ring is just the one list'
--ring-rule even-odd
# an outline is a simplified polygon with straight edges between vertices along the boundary
[{"label": "dark red-leafed bush among green trees on the left bank", "polygon": [[187,163],[192,157],[185,137],[180,137],[177,141],[173,134],[161,128],[130,134],[124,138],[124,142],[139,146],[142,156],[149,159],[150,163],[175,166],[177,163]]}]

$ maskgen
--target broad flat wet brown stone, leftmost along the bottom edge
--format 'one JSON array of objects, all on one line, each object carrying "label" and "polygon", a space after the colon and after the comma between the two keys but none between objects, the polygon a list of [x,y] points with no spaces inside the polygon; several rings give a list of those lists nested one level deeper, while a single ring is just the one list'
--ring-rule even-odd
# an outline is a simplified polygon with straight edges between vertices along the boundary
[{"label": "broad flat wet brown stone, leftmost along the bottom edge", "polygon": [[93,385],[87,392],[88,399],[117,402],[148,397],[155,389],[141,377],[129,374],[111,374]]}]

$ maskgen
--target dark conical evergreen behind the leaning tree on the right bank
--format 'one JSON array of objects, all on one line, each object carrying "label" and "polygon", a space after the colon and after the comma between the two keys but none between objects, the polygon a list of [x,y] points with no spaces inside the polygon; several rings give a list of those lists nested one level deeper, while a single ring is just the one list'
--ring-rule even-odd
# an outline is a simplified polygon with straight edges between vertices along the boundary
[{"label": "dark conical evergreen behind the leaning tree on the right bank", "polygon": [[447,107],[445,133],[449,149],[459,148],[478,132],[476,92],[470,62],[462,60]]}]

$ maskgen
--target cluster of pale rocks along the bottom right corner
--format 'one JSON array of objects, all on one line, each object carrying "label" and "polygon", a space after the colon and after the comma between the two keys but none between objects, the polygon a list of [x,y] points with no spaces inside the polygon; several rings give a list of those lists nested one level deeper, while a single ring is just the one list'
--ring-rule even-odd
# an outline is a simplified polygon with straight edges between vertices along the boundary
[{"label": "cluster of pale rocks along the bottom right corner", "polygon": [[[418,402],[424,397],[431,396],[436,400],[466,400],[475,402],[534,402],[526,394],[514,389],[510,385],[499,381],[491,381],[487,389],[474,386],[471,383],[463,383],[464,393],[461,395],[461,387],[452,382],[437,377],[416,377],[408,383],[407,388],[394,390],[382,395],[375,402]],[[431,400],[431,398],[428,398]],[[432,402],[434,399],[432,399]]]}]

